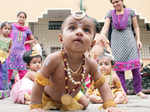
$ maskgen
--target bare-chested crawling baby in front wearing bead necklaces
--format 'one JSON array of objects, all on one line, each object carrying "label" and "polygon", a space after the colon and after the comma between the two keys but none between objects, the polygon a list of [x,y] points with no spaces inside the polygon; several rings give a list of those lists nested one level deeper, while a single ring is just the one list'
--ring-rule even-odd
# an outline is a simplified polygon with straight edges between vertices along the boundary
[{"label": "bare-chested crawling baby in front wearing bead necklaces", "polygon": [[84,55],[94,44],[95,29],[95,21],[83,12],[73,13],[64,20],[59,34],[63,50],[48,55],[37,72],[31,112],[44,112],[47,104],[46,109],[82,110],[84,105],[75,96],[88,74],[92,74],[95,87],[103,96],[103,108],[120,112],[97,63]]}]

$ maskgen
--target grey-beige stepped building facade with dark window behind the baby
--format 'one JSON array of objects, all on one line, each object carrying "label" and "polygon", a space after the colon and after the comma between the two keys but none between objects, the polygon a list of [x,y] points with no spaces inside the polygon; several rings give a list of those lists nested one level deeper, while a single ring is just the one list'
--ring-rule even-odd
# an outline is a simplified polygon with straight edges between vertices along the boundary
[{"label": "grey-beige stepped building facade with dark window behind the baby", "polygon": [[[61,45],[58,40],[58,34],[60,33],[62,22],[70,13],[70,9],[48,10],[37,22],[29,22],[33,35],[39,38],[39,42],[43,44],[47,54],[60,49]],[[138,22],[141,30],[141,41],[143,43],[143,49],[140,52],[141,58],[150,59],[150,27],[139,16]],[[103,24],[103,22],[100,23]]]}]

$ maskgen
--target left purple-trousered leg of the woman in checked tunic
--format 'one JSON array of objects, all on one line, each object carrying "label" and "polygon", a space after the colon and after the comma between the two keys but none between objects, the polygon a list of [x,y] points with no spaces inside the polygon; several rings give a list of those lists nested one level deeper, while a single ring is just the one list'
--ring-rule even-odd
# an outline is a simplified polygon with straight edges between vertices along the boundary
[{"label": "left purple-trousered leg of the woman in checked tunic", "polygon": [[124,89],[124,91],[127,93],[127,88],[126,88],[126,80],[125,80],[125,72],[124,71],[116,71],[116,74],[118,75],[120,81],[121,81],[121,85]]}]

